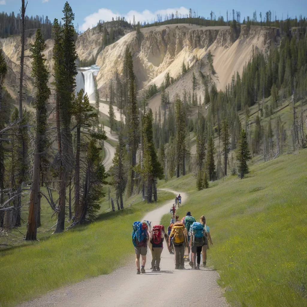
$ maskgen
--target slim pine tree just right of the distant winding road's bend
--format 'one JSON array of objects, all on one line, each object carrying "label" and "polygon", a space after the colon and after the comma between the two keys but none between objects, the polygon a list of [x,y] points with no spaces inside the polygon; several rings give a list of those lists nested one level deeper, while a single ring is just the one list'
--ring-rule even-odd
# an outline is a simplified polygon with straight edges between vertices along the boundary
[{"label": "slim pine tree just right of the distant winding road's bend", "polygon": [[116,146],[115,155],[112,160],[113,165],[111,166],[109,173],[111,174],[112,177],[111,185],[115,188],[116,199],[120,200],[120,208],[123,209],[124,205],[123,205],[122,196],[125,192],[125,181],[124,181],[125,172],[124,172],[123,161],[126,155],[126,146],[123,142],[121,132],[119,133],[118,136],[118,142],[119,143]]}]

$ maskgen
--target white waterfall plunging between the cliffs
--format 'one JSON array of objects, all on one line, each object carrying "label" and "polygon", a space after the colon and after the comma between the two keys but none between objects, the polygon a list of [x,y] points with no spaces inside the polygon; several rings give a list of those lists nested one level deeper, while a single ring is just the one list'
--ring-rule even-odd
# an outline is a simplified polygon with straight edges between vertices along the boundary
[{"label": "white waterfall plunging between the cliffs", "polygon": [[94,76],[98,75],[100,67],[97,65],[92,65],[90,67],[80,67],[78,68],[78,74],[76,76],[76,93],[80,91],[81,88],[87,93],[90,100],[95,100],[95,81]]}]

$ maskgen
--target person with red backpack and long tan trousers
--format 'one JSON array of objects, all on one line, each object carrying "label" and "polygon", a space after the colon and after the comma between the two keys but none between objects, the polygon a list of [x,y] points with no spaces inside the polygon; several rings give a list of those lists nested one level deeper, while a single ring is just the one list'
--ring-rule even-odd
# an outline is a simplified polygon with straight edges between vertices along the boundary
[{"label": "person with red backpack and long tan trousers", "polygon": [[153,260],[151,261],[151,270],[153,272],[160,271],[160,261],[161,261],[161,253],[163,250],[163,241],[164,238],[167,243],[168,235],[164,231],[163,225],[155,225],[153,226],[153,230],[151,232],[151,255]]}]

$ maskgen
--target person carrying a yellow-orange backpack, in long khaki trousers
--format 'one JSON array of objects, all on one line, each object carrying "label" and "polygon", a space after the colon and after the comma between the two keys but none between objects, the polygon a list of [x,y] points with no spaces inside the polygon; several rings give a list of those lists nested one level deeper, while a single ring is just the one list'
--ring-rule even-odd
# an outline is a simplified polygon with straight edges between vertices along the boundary
[{"label": "person carrying a yellow-orange backpack, in long khaki trousers", "polygon": [[188,238],[185,226],[182,222],[173,225],[169,235],[169,244],[173,243],[175,253],[175,269],[183,270],[185,268],[185,247],[188,246]]}]

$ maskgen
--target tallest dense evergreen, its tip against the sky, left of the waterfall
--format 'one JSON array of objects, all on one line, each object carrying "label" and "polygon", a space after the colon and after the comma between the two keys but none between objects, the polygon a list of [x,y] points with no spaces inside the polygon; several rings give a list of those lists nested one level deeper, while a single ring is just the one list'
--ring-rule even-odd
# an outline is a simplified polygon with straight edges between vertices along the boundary
[{"label": "tallest dense evergreen, its tip against the sky, left of the waterfall", "polygon": [[54,60],[53,84],[55,85],[58,148],[60,156],[60,199],[56,232],[64,230],[66,185],[68,182],[68,174],[74,162],[70,123],[72,117],[72,101],[76,87],[75,77],[77,75],[77,54],[74,41],[75,29],[73,25],[75,14],[73,14],[68,2],[64,5],[63,13],[62,28],[56,19],[54,21],[54,47],[52,55]]}]

